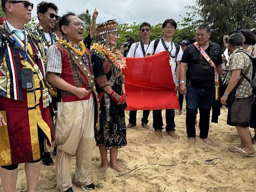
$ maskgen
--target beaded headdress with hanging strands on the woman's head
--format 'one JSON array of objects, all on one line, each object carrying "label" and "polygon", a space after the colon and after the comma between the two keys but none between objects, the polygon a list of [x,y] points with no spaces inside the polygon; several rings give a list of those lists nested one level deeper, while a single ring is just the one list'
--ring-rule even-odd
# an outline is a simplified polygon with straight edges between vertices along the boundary
[{"label": "beaded headdress with hanging strands on the woman's head", "polygon": [[118,31],[118,23],[114,20],[108,20],[96,26],[96,40],[99,44],[104,43],[109,46],[108,33]]}]

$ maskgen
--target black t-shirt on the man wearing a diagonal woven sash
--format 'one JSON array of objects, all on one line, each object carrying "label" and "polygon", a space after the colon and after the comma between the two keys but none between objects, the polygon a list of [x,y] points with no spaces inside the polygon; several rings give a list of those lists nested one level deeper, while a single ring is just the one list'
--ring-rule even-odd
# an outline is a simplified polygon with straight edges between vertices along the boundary
[{"label": "black t-shirt on the man wearing a diagonal woven sash", "polygon": [[[205,50],[211,57],[215,65],[222,63],[220,46],[214,42],[210,42]],[[210,53],[211,52],[211,53]],[[187,63],[186,79],[190,80],[190,84],[196,87],[207,87],[214,85],[214,69],[209,67],[209,63],[201,56],[199,50],[189,44],[183,52],[181,62]],[[203,68],[203,67],[207,68]]]}]

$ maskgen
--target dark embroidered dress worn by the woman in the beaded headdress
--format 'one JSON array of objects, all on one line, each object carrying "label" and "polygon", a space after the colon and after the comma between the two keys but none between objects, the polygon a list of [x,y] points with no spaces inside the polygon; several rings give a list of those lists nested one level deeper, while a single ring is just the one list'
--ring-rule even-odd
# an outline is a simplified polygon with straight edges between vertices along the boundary
[{"label": "dark embroidered dress worn by the woman in the beaded headdress", "polygon": [[[116,52],[113,50],[115,55],[117,55]],[[109,85],[116,93],[122,95],[122,83],[124,83],[122,71],[113,64],[111,58],[102,50],[102,46],[93,44],[91,55],[96,88],[99,95],[103,95],[102,98],[99,96],[101,114],[100,128],[95,135],[96,144],[105,146],[106,149],[120,148],[127,145],[124,117],[124,109],[127,105],[126,102],[123,105],[117,105],[102,87]]]}]

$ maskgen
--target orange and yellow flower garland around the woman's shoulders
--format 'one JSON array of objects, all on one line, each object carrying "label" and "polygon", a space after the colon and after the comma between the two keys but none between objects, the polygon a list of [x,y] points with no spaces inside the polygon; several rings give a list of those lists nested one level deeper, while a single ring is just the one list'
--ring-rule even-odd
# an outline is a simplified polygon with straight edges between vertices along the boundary
[{"label": "orange and yellow flower garland around the woman's shoulders", "polygon": [[106,45],[99,44],[99,43],[93,43],[92,48],[95,48],[97,50],[104,52],[104,54],[111,60],[113,65],[116,66],[118,69],[122,69],[126,67],[126,59],[122,55],[119,49],[111,50]]}]

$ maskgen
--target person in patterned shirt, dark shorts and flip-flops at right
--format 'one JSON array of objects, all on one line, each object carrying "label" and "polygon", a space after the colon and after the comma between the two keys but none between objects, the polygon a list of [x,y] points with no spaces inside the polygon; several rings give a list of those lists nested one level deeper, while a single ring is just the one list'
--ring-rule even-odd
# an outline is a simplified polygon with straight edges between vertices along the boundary
[{"label": "person in patterned shirt, dark shorts and flip-flops at right", "polygon": [[[228,51],[231,53],[229,67],[225,83],[227,87],[220,101],[226,104],[227,97],[231,90],[239,83],[241,72],[249,79],[252,77],[252,62],[249,56],[244,52],[242,44],[244,38],[237,33],[230,35],[227,39]],[[255,150],[252,146],[249,133],[250,108],[252,105],[253,94],[249,82],[243,78],[235,92],[235,98],[230,108],[228,108],[227,124],[235,126],[240,136],[241,143],[238,146],[228,147],[229,151],[236,152],[242,156],[255,156]]]}]

